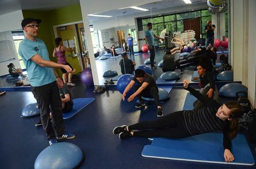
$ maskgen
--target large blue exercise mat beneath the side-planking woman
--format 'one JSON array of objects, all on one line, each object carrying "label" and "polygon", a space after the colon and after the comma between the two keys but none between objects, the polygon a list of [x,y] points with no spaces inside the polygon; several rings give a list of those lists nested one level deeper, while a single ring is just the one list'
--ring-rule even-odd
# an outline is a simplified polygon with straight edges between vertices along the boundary
[{"label": "large blue exercise mat beneath the side-planking woman", "polygon": [[[149,138],[152,140],[152,138]],[[205,133],[187,138],[153,138],[151,145],[144,146],[141,155],[182,161],[219,164],[254,165],[246,138],[238,134],[232,139],[233,162],[225,162],[222,133]]]}]

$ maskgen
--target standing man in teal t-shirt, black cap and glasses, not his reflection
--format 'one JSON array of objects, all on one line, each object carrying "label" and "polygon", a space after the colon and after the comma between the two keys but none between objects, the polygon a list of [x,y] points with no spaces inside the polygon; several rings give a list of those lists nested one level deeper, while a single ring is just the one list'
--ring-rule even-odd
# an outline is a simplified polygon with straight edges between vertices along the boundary
[{"label": "standing man in teal t-shirt, black cap and glasses, not his reflection", "polygon": [[[18,53],[26,66],[31,91],[40,110],[40,119],[49,144],[57,143],[57,139],[72,139],[74,134],[65,132],[61,110],[61,98],[58,88],[63,82],[53,68],[63,68],[67,72],[72,69],[68,65],[61,65],[49,60],[49,52],[45,43],[37,39],[41,19],[25,18],[22,28],[26,38],[20,42]],[[50,106],[52,108],[52,121],[50,121]]]}]

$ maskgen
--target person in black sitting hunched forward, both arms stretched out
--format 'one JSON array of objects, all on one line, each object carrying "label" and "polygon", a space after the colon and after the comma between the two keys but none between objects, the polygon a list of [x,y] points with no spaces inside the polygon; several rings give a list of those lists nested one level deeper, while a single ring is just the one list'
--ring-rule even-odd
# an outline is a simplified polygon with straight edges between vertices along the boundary
[{"label": "person in black sitting hunched forward, both arms stretched out", "polygon": [[142,97],[150,97],[154,98],[157,104],[157,117],[163,116],[163,109],[160,105],[159,95],[158,95],[158,88],[156,84],[156,80],[150,74],[144,72],[144,70],[136,69],[135,70],[135,77],[131,80],[131,82],[125,88],[122,99],[125,100],[126,93],[129,92],[132,87],[136,84],[137,86],[134,87],[135,93],[132,94],[127,101],[133,101],[135,97],[137,97],[140,101],[139,104],[136,104],[136,108],[140,108],[145,106],[145,103]]}]

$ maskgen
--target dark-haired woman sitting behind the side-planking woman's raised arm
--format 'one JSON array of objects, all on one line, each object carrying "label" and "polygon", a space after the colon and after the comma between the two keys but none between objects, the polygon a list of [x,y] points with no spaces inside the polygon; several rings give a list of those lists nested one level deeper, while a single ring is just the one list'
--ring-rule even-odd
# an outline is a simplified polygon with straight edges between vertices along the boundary
[{"label": "dark-haired woman sitting behind the side-planking woman's raised arm", "polygon": [[[200,93],[202,95],[207,95],[209,98],[219,101],[219,93],[215,85],[214,74],[207,69],[204,64],[197,65],[197,73],[199,76],[194,77],[194,80],[200,78],[199,87],[201,88]],[[203,103],[199,100],[196,100],[193,105],[194,111],[203,107]]]}]

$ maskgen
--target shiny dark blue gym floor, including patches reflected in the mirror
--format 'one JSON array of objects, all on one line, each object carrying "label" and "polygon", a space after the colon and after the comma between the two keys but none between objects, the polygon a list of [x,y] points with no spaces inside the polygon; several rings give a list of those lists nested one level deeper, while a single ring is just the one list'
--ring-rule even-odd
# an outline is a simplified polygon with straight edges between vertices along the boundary
[{"label": "shiny dark blue gym floor, including patches reflected in the mirror", "polygon": [[[157,63],[161,61],[162,55],[163,51],[157,51]],[[139,56],[135,57],[137,66],[143,64],[138,64],[140,59]],[[117,65],[115,70],[119,69]],[[153,73],[157,79],[162,72],[158,68]],[[191,74],[192,71],[186,70],[178,81],[190,79]],[[65,120],[66,131],[76,135],[75,139],[66,142],[77,145],[86,156],[80,168],[255,168],[255,165],[222,165],[142,157],[144,145],[150,144],[147,138],[120,140],[118,135],[113,135],[112,130],[119,125],[156,120],[156,105],[147,104],[144,109],[137,109],[136,100],[131,103],[122,101],[117,89],[110,88],[99,95],[93,93],[93,87],[87,88],[80,81],[75,82],[77,86],[70,87],[73,98],[96,98],[74,117]],[[170,91],[170,100],[162,103],[164,115],[181,110],[186,93],[183,88],[174,87]],[[37,155],[49,146],[42,127],[34,126],[39,117],[20,117],[22,109],[34,103],[35,99],[30,91],[7,91],[0,100],[0,168],[33,168]],[[249,143],[249,146],[256,159],[255,144]]]}]

